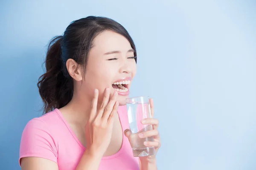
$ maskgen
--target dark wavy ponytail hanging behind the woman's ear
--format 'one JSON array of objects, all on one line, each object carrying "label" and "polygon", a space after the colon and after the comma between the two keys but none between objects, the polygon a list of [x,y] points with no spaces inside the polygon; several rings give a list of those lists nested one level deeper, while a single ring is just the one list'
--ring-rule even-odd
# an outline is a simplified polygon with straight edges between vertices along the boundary
[{"label": "dark wavy ponytail hanging behind the woman's ear", "polygon": [[45,59],[46,73],[38,79],[39,94],[44,102],[44,113],[67,105],[73,96],[73,81],[64,75],[67,69],[61,59],[63,37],[54,37],[50,42]]}]

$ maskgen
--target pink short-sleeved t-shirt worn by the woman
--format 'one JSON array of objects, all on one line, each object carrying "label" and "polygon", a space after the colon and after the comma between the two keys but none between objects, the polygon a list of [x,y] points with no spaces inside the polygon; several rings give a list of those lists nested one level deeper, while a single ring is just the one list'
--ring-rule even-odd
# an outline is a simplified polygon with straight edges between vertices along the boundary
[{"label": "pink short-sleeved t-shirt worn by the woman", "polygon": [[[124,131],[129,128],[126,106],[119,106],[118,114]],[[59,170],[76,170],[84,150],[58,109],[30,120],[20,142],[20,158],[35,156],[49,159],[58,164]],[[133,156],[124,135],[121,149],[112,156],[103,157],[99,165],[99,170],[139,169],[139,159]]]}]

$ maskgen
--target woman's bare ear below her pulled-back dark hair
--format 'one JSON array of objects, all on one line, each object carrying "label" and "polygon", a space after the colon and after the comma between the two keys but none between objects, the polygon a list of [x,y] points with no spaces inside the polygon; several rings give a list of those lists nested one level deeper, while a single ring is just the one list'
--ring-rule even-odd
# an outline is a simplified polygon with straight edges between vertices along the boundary
[{"label": "woman's bare ear below her pulled-back dark hair", "polygon": [[67,71],[70,76],[76,81],[81,81],[83,79],[82,76],[82,67],[77,64],[77,62],[73,59],[68,59],[66,62]]}]

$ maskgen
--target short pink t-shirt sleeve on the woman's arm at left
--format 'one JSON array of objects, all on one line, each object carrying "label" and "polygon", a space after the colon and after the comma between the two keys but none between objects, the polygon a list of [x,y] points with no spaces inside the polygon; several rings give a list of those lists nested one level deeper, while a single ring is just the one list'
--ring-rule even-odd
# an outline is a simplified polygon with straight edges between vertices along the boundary
[{"label": "short pink t-shirt sleeve on the woman's arm at left", "polygon": [[57,149],[47,124],[39,118],[31,119],[25,126],[20,141],[20,159],[41,157],[57,163]]}]

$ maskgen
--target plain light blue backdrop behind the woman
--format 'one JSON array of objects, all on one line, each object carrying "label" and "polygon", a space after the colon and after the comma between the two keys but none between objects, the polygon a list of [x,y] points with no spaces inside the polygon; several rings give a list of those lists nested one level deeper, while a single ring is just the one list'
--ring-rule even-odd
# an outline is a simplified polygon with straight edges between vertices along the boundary
[{"label": "plain light blue backdrop behind the woman", "polygon": [[159,170],[256,169],[254,0],[2,0],[0,170],[19,170],[20,137],[41,116],[49,40],[73,20],[111,17],[138,50],[131,96],[154,98]]}]

